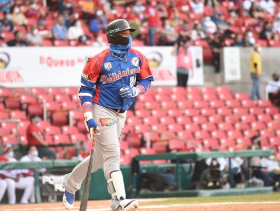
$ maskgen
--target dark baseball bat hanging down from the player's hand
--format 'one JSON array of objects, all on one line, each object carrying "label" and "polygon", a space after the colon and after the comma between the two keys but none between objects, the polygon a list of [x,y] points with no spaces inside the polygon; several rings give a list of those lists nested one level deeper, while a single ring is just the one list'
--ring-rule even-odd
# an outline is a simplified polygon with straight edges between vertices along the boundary
[{"label": "dark baseball bat hanging down from the player's hand", "polygon": [[93,160],[93,148],[94,148],[94,141],[92,142],[90,157],[89,157],[89,164],[87,168],[87,174],[80,204],[80,211],[86,211],[87,210],[87,202],[88,202],[88,196],[89,196],[89,188],[90,188],[90,180],[91,180],[91,166],[92,166],[92,160]]}]

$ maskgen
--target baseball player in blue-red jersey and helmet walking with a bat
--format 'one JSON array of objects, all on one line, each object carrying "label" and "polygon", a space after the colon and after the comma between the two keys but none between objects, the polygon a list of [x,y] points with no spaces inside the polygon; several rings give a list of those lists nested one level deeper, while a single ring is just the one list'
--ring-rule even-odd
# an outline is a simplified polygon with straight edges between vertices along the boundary
[{"label": "baseball player in blue-red jersey and helmet walking with a bat", "polygon": [[[96,137],[92,172],[103,166],[111,194],[111,209],[135,210],[138,201],[126,199],[123,175],[120,171],[119,138],[126,120],[127,109],[140,94],[148,91],[153,77],[146,57],[131,48],[134,28],[118,19],[106,28],[108,49],[89,58],[82,72],[78,93],[86,127],[92,139]],[[89,157],[64,177],[64,205],[71,209],[75,192],[86,176]]]}]

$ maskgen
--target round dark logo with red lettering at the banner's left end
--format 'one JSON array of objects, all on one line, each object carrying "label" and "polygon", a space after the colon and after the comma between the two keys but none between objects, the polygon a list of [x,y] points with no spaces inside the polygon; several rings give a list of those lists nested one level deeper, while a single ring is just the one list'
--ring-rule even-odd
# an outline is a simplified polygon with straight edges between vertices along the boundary
[{"label": "round dark logo with red lettering at the banner's left end", "polygon": [[0,52],[0,83],[23,83],[23,77],[17,68],[9,67],[10,55]]}]

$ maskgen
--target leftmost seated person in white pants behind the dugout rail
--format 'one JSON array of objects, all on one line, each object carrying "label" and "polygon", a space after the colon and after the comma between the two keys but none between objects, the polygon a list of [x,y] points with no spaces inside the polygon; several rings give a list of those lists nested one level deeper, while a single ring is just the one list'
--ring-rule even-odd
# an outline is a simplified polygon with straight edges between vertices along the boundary
[{"label": "leftmost seated person in white pants behind the dugout rail", "polygon": [[[17,162],[14,158],[12,145],[4,146],[4,156],[9,159],[9,162]],[[21,170],[0,170],[0,177],[7,183],[8,200],[10,204],[16,203],[16,188],[24,189],[21,197],[21,203],[28,203],[34,191],[34,178],[22,177]]]}]

